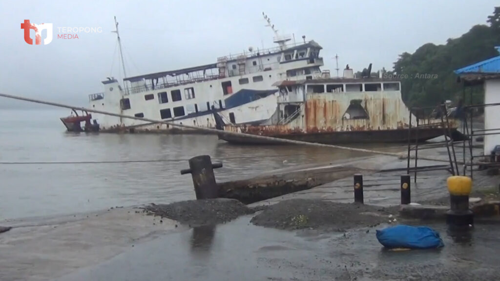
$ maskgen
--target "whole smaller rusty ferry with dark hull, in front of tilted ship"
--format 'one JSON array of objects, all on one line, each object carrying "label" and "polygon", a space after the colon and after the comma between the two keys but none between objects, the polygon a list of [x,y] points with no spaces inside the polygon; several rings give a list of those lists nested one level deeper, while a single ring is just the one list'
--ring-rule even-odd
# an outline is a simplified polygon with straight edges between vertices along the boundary
[{"label": "whole smaller rusty ferry with dark hull, in front of tilted ship", "polygon": [[224,133],[230,131],[335,144],[421,142],[443,134],[455,139],[460,136],[454,119],[417,120],[402,101],[396,80],[328,78],[283,81],[278,87],[276,112],[259,125],[227,123],[214,113],[219,138],[244,144],[280,143]]}]

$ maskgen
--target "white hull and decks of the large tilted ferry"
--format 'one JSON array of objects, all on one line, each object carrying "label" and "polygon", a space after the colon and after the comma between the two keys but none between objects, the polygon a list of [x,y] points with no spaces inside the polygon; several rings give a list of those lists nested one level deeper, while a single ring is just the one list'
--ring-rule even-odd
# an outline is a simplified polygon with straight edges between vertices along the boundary
[{"label": "white hull and decks of the large tilted ferry", "polygon": [[[240,54],[219,57],[212,64],[126,77],[124,89],[116,79],[108,78],[102,81],[103,93],[89,96],[90,105],[103,111],[208,127],[215,124],[210,109],[220,110],[232,123],[265,120],[276,109],[273,83],[321,75],[322,47],[313,40],[286,44],[289,40],[276,38],[278,47],[250,47]],[[94,116],[103,130],[116,126],[163,128],[139,120]]]}]

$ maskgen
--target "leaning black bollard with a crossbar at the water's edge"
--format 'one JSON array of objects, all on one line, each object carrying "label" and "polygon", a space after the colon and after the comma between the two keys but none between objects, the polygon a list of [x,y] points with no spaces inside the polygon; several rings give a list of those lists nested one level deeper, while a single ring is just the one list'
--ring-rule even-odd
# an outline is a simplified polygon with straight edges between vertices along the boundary
[{"label": "leaning black bollard with a crossbar at the water's edge", "polygon": [[213,169],[221,166],[222,163],[212,164],[209,155],[199,155],[189,159],[189,168],[180,170],[180,174],[191,173],[196,199],[212,199],[218,197]]}]

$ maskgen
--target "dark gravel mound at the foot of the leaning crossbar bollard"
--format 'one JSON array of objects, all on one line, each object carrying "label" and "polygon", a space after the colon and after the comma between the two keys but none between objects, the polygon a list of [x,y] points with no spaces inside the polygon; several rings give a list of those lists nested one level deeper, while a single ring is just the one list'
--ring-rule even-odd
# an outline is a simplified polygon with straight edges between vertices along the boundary
[{"label": "dark gravel mound at the foot of the leaning crossbar bollard", "polygon": [[187,200],[143,207],[150,214],[177,220],[190,226],[211,225],[232,220],[251,209],[235,199]]}]

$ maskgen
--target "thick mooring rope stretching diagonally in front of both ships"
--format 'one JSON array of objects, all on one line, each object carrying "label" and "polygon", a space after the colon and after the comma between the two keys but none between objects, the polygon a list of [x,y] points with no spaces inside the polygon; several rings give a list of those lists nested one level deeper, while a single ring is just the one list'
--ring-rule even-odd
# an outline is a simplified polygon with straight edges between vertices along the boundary
[{"label": "thick mooring rope stretching diagonally in front of both ships", "polygon": [[[176,124],[176,123],[169,122],[169,121],[154,120],[154,119],[145,118],[145,117],[129,116],[129,115],[125,115],[125,114],[118,114],[118,113],[112,113],[112,112],[107,112],[107,111],[102,111],[102,110],[91,109],[91,108],[67,105],[67,104],[62,104],[62,103],[57,103],[57,102],[44,101],[44,100],[40,100],[40,99],[28,98],[28,97],[23,97],[23,96],[18,96],[18,95],[10,95],[10,94],[0,93],[0,96],[6,97],[6,98],[34,102],[34,103],[52,105],[52,106],[57,106],[57,107],[64,107],[64,108],[75,109],[75,110],[84,110],[84,111],[88,111],[88,112],[105,114],[105,115],[116,116],[116,117],[121,117],[121,118],[135,119],[135,120],[151,122],[151,123],[167,124],[167,125],[174,126],[174,127],[189,128],[189,129],[199,130],[199,131],[204,131],[204,132],[209,132],[209,133],[216,133],[219,135],[225,134],[225,135],[234,135],[234,136],[245,136],[248,138],[269,140],[269,141],[282,142],[282,143],[302,144],[302,145],[310,145],[310,146],[318,146],[318,147],[330,147],[330,148],[344,149],[344,150],[349,150],[349,151],[381,154],[381,155],[398,157],[399,159],[406,159],[407,158],[407,156],[404,155],[404,152],[399,152],[399,153],[387,152],[387,151],[372,150],[372,149],[365,149],[365,148],[347,147],[347,146],[341,146],[341,145],[335,145],[335,144],[323,144],[323,143],[317,143],[317,142],[307,142],[307,141],[292,140],[292,139],[278,138],[278,137],[272,137],[272,136],[255,135],[255,134],[242,133],[242,132],[224,131],[224,130],[218,130],[218,129],[213,129],[213,128],[191,126],[191,125],[186,125],[186,124]],[[412,157],[410,156],[410,158],[412,158]],[[422,159],[422,160],[448,161],[448,160],[443,160],[443,159],[420,157],[420,156],[418,158]]]}]

